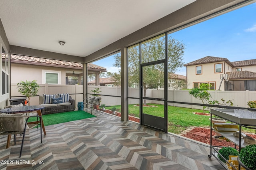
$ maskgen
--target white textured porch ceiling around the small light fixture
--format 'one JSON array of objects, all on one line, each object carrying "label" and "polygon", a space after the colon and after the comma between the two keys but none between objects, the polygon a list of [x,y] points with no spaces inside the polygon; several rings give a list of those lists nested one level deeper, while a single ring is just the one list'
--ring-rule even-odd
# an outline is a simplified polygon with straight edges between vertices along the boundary
[{"label": "white textured porch ceiling around the small light fixture", "polygon": [[10,45],[85,57],[194,1],[1,0],[0,18]]}]

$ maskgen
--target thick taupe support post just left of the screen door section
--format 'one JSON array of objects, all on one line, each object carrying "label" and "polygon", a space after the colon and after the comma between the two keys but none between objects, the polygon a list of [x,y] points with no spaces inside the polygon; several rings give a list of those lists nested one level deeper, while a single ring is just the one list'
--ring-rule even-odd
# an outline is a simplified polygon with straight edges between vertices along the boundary
[{"label": "thick taupe support post just left of the screen door section", "polygon": [[121,121],[128,121],[127,48],[121,47]]}]

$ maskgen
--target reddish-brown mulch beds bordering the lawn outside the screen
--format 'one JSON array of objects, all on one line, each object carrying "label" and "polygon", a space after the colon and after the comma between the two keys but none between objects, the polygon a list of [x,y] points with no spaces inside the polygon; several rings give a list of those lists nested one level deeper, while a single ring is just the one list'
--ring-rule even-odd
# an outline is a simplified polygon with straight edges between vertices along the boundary
[{"label": "reddish-brown mulch beds bordering the lawn outside the screen", "polygon": [[[105,109],[104,112],[112,114],[112,111],[110,111],[110,110]],[[205,113],[205,114],[207,114],[207,113]],[[121,117],[121,114],[119,112],[116,112],[116,116]],[[138,118],[129,116],[128,119],[130,121],[140,123],[140,119],[138,119]],[[196,135],[196,134],[194,134],[195,132],[204,133],[204,134],[206,134],[206,136]],[[212,131],[212,136],[214,136],[214,135],[215,135],[215,133],[214,133],[214,131]],[[247,135],[256,139],[256,134],[247,134]],[[206,144],[210,144],[210,128],[196,127],[194,129],[190,130],[187,134],[184,134],[182,136],[185,136],[187,138],[194,139],[194,140],[206,143]],[[212,145],[213,146],[232,146],[232,147],[234,147],[233,142],[229,142],[226,140],[220,141],[220,140],[217,140],[214,138],[212,138]]]}]

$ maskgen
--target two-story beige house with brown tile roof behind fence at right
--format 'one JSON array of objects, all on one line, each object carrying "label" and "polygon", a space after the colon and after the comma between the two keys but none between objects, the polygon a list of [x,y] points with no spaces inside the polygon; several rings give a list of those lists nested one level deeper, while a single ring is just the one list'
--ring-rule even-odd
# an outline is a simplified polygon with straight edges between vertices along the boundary
[{"label": "two-story beige house with brown tile roof behind fence at right", "polygon": [[[256,90],[256,59],[230,62],[227,58],[206,56],[184,66],[188,89],[207,83],[212,90]],[[225,74],[227,77],[222,80]]]}]

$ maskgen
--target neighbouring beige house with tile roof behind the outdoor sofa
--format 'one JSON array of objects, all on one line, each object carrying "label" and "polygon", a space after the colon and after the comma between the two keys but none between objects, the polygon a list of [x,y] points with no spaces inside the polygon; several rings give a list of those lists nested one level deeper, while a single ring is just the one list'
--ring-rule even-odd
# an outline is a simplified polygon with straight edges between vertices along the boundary
[{"label": "neighbouring beige house with tile roof behind the outdoor sofa", "polygon": [[[82,85],[82,63],[14,54],[10,55],[10,61],[12,67],[11,83],[17,84],[24,80],[36,80],[39,84]],[[92,63],[88,63],[87,67],[88,75],[94,74],[98,78],[100,73],[107,71],[106,68]],[[68,77],[76,77],[76,82],[70,83],[72,79],[70,80]]]}]

